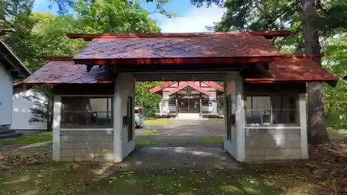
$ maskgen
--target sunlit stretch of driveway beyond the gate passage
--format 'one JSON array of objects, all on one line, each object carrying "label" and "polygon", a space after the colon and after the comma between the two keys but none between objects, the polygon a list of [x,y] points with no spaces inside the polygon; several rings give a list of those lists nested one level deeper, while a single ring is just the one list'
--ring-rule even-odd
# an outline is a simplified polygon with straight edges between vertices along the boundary
[{"label": "sunlit stretch of driveway beyond the gate passage", "polygon": [[171,123],[146,125],[142,129],[136,129],[135,134],[139,147],[150,145],[223,148],[223,119],[168,120]]}]

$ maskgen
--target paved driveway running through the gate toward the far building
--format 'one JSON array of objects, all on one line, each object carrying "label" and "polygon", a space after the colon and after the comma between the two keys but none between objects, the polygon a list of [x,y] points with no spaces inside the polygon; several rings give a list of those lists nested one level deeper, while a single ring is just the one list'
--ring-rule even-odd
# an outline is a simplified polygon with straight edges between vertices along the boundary
[{"label": "paved driveway running through the gate toward the far building", "polygon": [[223,150],[222,119],[169,120],[171,124],[137,129],[136,150],[117,164],[119,169],[237,169],[235,160]]}]

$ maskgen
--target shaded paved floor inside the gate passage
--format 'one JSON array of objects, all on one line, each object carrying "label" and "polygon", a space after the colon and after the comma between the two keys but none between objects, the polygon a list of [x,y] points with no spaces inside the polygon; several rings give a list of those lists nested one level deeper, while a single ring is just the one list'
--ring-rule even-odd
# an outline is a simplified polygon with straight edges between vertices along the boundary
[{"label": "shaded paved floor inside the gate passage", "polygon": [[143,147],[116,167],[120,171],[238,169],[225,151],[201,147]]}]

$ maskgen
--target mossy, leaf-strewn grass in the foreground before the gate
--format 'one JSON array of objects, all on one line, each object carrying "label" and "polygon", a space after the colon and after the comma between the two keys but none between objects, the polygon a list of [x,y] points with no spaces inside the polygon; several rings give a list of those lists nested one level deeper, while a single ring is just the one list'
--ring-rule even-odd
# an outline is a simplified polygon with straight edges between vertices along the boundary
[{"label": "mossy, leaf-strewn grass in the foreground before the gate", "polygon": [[[171,171],[111,173],[112,164],[50,162],[1,173],[0,194],[285,194],[286,187],[244,171]],[[292,179],[291,176],[288,178]],[[291,187],[293,182],[290,180]],[[280,185],[280,186],[278,186]]]}]

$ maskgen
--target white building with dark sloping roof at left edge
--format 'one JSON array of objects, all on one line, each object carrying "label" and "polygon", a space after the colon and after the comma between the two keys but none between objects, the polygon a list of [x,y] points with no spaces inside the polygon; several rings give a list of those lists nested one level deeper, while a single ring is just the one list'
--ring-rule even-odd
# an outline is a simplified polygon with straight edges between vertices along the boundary
[{"label": "white building with dark sloping roof at left edge", "polygon": [[[0,139],[21,135],[20,129],[46,129],[46,124],[30,124],[33,102],[24,98],[35,90],[14,90],[13,83],[31,75],[24,63],[0,39]],[[15,92],[15,94],[14,94]]]}]

